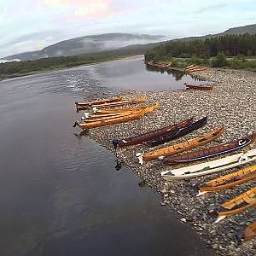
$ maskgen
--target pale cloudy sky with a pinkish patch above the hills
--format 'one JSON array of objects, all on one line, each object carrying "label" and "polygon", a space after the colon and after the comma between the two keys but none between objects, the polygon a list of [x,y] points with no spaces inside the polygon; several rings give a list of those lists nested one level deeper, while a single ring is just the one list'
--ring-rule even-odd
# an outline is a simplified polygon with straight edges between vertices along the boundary
[{"label": "pale cloudy sky with a pinkish patch above the hills", "polygon": [[0,0],[0,58],[108,32],[183,38],[256,23],[256,0]]}]

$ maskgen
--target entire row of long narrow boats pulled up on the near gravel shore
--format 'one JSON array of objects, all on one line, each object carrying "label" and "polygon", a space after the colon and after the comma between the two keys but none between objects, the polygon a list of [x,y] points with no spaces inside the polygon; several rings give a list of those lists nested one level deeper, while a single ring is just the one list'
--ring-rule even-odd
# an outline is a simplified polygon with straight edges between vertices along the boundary
[{"label": "entire row of long narrow boats pulled up on the near gravel shore", "polygon": [[[125,101],[123,97],[116,97],[112,99],[94,101],[94,102],[76,102],[77,110],[84,110],[90,108],[92,113],[84,113],[82,122],[76,121],[81,129],[90,129],[103,125],[112,125],[121,122],[127,122],[132,119],[138,119],[146,113],[151,113],[154,109],[158,108],[159,104],[155,103],[148,107],[135,107],[135,108],[119,108],[127,104],[137,104],[145,102],[146,98],[141,97],[136,100]],[[118,107],[118,108],[116,108]],[[164,143],[168,143],[179,137],[183,137],[192,131],[195,131],[207,124],[207,117],[194,121],[193,118],[182,120],[177,124],[168,125],[154,131],[148,131],[143,134],[113,139],[113,147],[123,148],[137,144],[144,144],[148,148],[153,148]],[[74,125],[74,126],[75,126]],[[241,137],[228,143],[219,143],[218,145],[184,153],[190,149],[204,146],[207,143],[216,141],[224,132],[224,127],[219,126],[212,131],[208,131],[201,137],[194,137],[187,141],[176,143],[165,148],[158,148],[147,153],[138,153],[137,158],[139,163],[143,165],[145,161],[161,160],[168,166],[175,166],[177,164],[189,164],[196,160],[206,160],[210,157],[220,154],[227,154],[241,149],[255,142],[256,133],[253,132],[247,137]],[[183,154],[180,154],[183,153]],[[184,178],[201,177],[203,175],[221,172],[236,166],[253,163],[256,160],[256,148],[247,152],[238,154],[231,154],[218,160],[203,162],[192,166],[183,166],[181,168],[171,169],[170,171],[161,172],[161,176],[167,181],[173,181]],[[215,178],[211,181],[203,183],[201,186],[196,185],[198,189],[198,196],[205,195],[213,191],[222,189],[230,189],[242,183],[246,183],[255,179],[256,165],[247,166],[237,172]],[[234,215],[249,207],[256,205],[256,187],[247,190],[241,195],[236,196],[230,201],[226,201],[220,207],[210,209],[210,212],[217,213],[218,219],[216,222],[225,218],[226,216]],[[255,222],[247,227],[245,239],[248,237],[255,237]],[[249,230],[249,231],[248,231]],[[254,235],[252,235],[254,232]]]}]

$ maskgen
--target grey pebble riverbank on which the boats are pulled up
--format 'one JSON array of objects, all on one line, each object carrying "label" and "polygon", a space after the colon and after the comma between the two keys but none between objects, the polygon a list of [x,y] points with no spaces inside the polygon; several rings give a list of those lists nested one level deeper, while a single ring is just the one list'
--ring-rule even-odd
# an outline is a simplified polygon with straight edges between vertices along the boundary
[{"label": "grey pebble riverbank on which the boats are pulled up", "polygon": [[[256,130],[256,73],[209,68],[206,71],[195,72],[193,75],[213,82],[215,84],[214,89],[212,91],[174,90],[147,93],[127,91],[125,95],[127,98],[148,96],[148,103],[160,102],[160,108],[154,113],[143,117],[143,119],[127,124],[105,126],[91,130],[90,137],[113,151],[111,144],[113,138],[130,137],[192,116],[195,119],[201,119],[206,115],[208,116],[208,123],[205,127],[176,140],[175,143],[200,136],[219,125],[224,125],[224,135],[212,145],[228,142],[237,137],[245,137]],[[244,150],[253,147],[255,147],[255,143]],[[166,167],[156,160],[140,166],[135,154],[148,151],[150,151],[150,148],[139,145],[120,148],[117,153],[119,160],[122,160],[125,166],[129,166],[138,177],[143,178],[143,181],[148,186],[154,187],[160,193],[162,198],[161,205],[168,207],[170,212],[180,214],[181,218],[185,218],[186,222],[192,226],[192,229],[196,230],[201,235],[201,238],[207,242],[207,245],[212,247],[218,254],[254,255],[256,253],[255,241],[238,244],[236,238],[237,232],[244,230],[247,224],[255,220],[254,209],[225,218],[218,224],[215,224],[215,218],[207,213],[209,205],[213,204],[218,207],[224,201],[255,186],[255,182],[245,183],[232,190],[220,191],[220,193],[212,193],[198,198],[188,182],[170,183],[160,177],[161,171],[171,169],[171,167]],[[221,175],[228,172],[230,170],[221,172]],[[202,183],[219,175],[220,173],[212,174],[198,178],[198,180]]]}]

